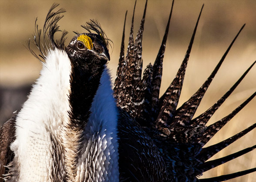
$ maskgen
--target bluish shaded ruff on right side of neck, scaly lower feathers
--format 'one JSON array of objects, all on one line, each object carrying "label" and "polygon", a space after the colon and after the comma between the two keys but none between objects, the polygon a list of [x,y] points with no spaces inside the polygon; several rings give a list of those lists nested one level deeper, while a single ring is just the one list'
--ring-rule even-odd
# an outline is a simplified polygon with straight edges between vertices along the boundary
[{"label": "bluish shaded ruff on right side of neck, scaly lower feathers", "polygon": [[117,108],[108,68],[104,68],[100,85],[91,106],[85,132],[81,160],[77,165],[77,181],[118,182]]}]

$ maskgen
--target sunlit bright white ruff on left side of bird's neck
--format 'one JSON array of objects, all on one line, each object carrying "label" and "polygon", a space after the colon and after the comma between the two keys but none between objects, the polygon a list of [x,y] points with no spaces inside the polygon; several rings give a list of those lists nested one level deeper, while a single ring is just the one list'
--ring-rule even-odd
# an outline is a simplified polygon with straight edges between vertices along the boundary
[{"label": "sunlit bright white ruff on left side of bird's neck", "polygon": [[50,133],[60,137],[61,123],[68,120],[70,73],[67,53],[58,49],[50,51],[40,78],[17,115],[16,140],[11,149],[18,164],[22,164],[19,182],[51,181]]}]

